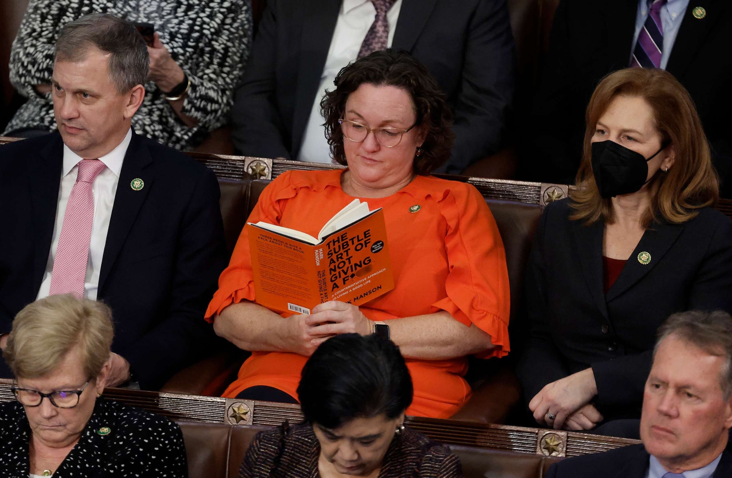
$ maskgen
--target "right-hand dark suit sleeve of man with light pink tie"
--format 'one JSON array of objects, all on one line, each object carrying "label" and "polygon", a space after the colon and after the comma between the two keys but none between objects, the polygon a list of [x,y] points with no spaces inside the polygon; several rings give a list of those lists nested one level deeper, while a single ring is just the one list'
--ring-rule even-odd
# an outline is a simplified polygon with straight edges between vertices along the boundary
[{"label": "right-hand dark suit sleeve of man with light pink tie", "polygon": [[219,186],[208,169],[190,193],[177,245],[171,300],[160,324],[120,354],[143,389],[158,389],[182,366],[211,351],[216,337],[203,320],[226,266]]}]

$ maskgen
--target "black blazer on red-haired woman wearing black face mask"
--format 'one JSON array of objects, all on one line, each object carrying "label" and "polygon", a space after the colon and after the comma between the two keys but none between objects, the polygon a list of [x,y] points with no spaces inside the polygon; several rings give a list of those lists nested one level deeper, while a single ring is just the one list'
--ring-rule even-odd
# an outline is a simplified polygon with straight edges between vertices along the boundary
[{"label": "black blazer on red-haired woman wearing black face mask", "polygon": [[[569,201],[545,209],[529,259],[524,394],[528,402],[546,384],[592,367],[605,419],[639,418],[663,321],[683,310],[732,313],[732,220],[704,208],[683,224],[651,225],[604,294],[604,223],[570,221]],[[649,264],[638,261],[641,252]]]}]

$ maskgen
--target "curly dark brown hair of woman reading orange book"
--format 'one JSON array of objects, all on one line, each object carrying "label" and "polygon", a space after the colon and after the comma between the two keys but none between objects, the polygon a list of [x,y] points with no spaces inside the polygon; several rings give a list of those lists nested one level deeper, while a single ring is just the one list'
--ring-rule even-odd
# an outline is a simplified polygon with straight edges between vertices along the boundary
[{"label": "curly dark brown hair of woman reading orange book", "polygon": [[414,157],[415,173],[429,174],[449,159],[455,141],[452,111],[435,78],[414,56],[392,49],[375,51],[340,70],[333,83],[335,90],[326,92],[321,101],[321,115],[330,152],[338,163],[348,165],[338,120],[343,119],[348,95],[363,84],[396,86],[410,94],[417,125],[426,127],[422,154]]}]

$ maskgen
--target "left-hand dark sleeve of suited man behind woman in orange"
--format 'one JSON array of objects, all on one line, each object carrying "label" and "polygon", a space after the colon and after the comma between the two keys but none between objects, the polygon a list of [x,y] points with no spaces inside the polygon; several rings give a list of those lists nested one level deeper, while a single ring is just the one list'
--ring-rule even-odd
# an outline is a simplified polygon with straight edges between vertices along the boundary
[{"label": "left-hand dark sleeve of suited man behind woman in orange", "polygon": [[[231,138],[240,154],[290,159],[287,133],[275,104],[277,29],[281,27],[276,4],[267,2],[242,86],[236,90]],[[295,68],[293,65],[293,74]]]}]

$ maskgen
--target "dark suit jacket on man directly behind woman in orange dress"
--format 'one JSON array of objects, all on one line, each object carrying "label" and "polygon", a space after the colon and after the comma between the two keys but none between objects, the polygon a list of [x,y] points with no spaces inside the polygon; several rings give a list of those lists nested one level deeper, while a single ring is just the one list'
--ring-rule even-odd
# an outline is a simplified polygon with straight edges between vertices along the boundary
[{"label": "dark suit jacket on man directly behind woman in orange dress", "polygon": [[[231,110],[239,153],[296,159],[342,3],[267,1]],[[422,61],[447,94],[457,135],[448,173],[498,150],[515,78],[505,0],[403,0],[392,48]]]}]

